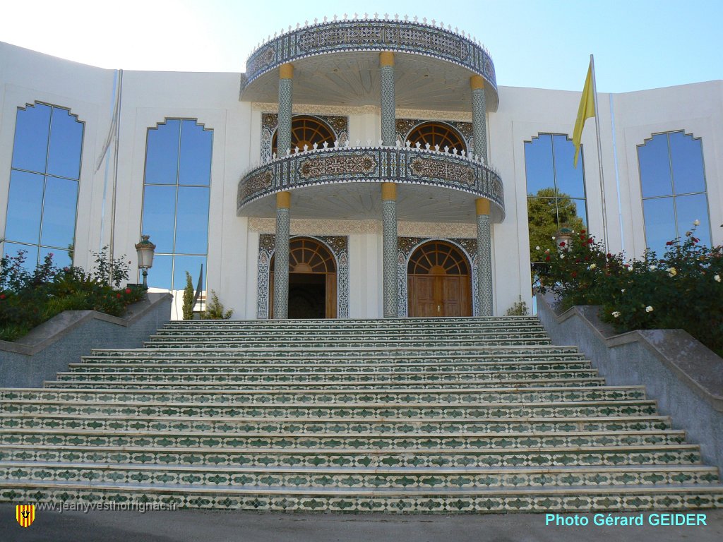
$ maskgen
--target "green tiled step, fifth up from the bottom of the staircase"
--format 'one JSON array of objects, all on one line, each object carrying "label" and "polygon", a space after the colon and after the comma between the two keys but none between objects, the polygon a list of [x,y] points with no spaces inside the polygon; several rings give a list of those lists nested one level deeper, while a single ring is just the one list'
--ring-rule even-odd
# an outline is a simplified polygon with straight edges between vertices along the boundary
[{"label": "green tiled step, fifth up from the bottom of the staircase", "polygon": [[0,414],[2,429],[69,429],[96,431],[203,431],[206,433],[305,433],[315,436],[356,434],[523,433],[570,431],[667,431],[665,416],[607,418],[507,418],[501,420],[408,418],[171,418],[139,416],[82,417],[66,414]]}]

